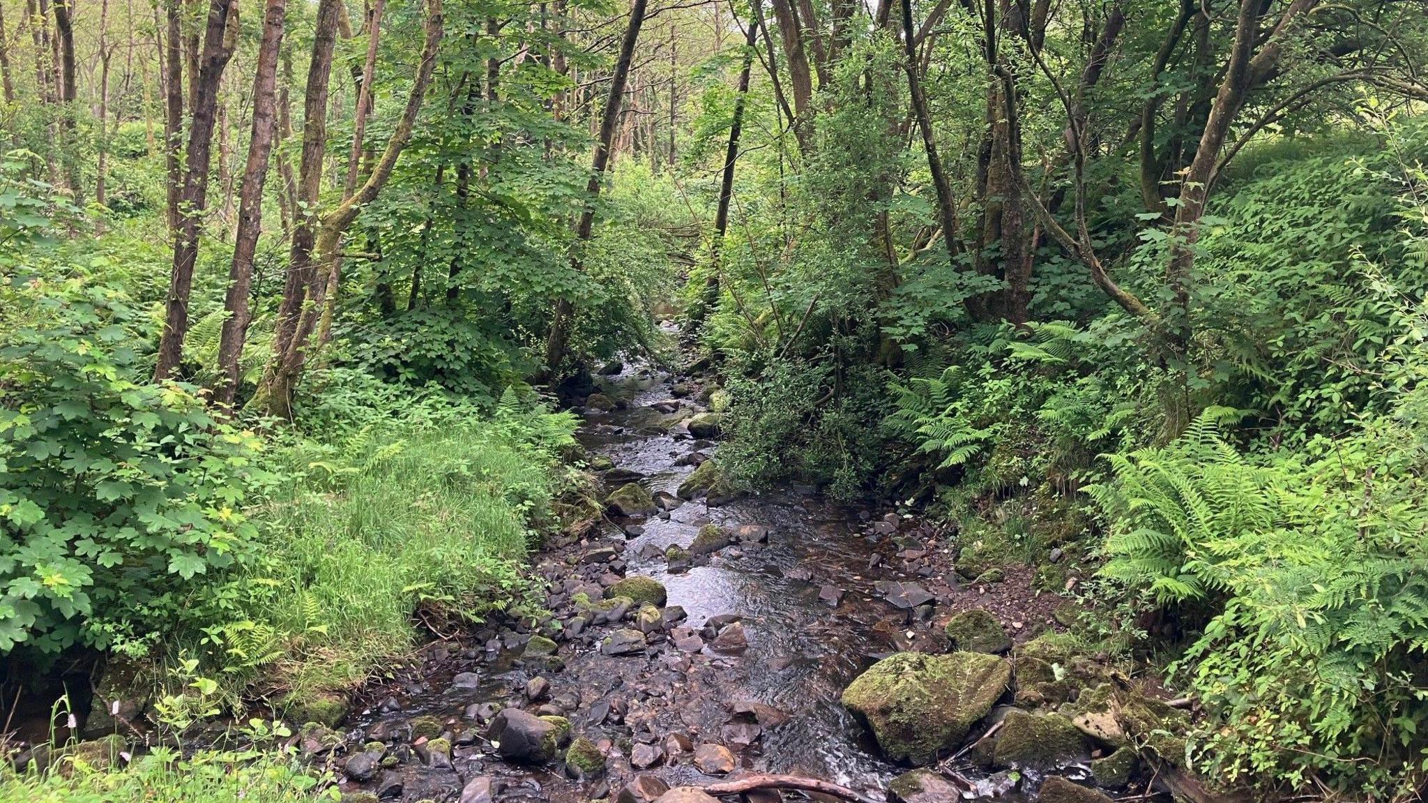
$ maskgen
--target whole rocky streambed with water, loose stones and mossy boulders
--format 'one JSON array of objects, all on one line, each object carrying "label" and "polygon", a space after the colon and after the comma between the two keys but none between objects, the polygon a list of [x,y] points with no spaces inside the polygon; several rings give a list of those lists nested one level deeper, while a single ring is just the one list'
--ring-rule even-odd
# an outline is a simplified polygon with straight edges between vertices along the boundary
[{"label": "whole rocky streambed with water, loose stones and mossy boulders", "polygon": [[[1090,803],[1175,776],[1154,739],[1184,714],[1068,652],[1030,573],[960,580],[925,524],[733,493],[695,383],[595,390],[580,440],[610,514],[538,556],[553,616],[428,644],[340,727],[307,726],[348,800],[707,803],[684,787],[777,773],[865,800]],[[803,796],[838,799],[725,800]]]}]

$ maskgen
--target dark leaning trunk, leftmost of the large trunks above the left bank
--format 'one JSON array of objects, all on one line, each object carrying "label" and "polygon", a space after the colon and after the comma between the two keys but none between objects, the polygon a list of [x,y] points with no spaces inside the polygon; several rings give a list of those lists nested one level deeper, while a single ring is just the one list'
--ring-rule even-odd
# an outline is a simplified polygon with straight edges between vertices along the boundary
[{"label": "dark leaning trunk, leftmost of the large trunks above the left bank", "polygon": [[183,341],[188,333],[188,294],[193,290],[193,269],[198,261],[198,233],[207,209],[208,163],[213,146],[214,113],[218,104],[218,81],[237,40],[237,13],[233,0],[210,0],[208,24],[203,36],[203,59],[198,66],[198,94],[188,123],[188,153],[184,164],[184,186],[180,196],[180,221],[174,236],[173,274],[164,303],[164,330],[159,337],[159,363],[154,380],[163,381],[183,360]]}]

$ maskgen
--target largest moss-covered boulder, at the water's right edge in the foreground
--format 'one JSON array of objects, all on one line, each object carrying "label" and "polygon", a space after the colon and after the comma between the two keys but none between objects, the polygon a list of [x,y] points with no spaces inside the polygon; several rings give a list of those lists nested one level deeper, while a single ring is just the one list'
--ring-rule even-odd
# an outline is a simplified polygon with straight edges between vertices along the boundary
[{"label": "largest moss-covered boulder, at the water's right edge in the foreground", "polygon": [[925,764],[960,744],[1010,680],[1011,664],[984,653],[895,653],[858,676],[843,704],[888,759]]}]

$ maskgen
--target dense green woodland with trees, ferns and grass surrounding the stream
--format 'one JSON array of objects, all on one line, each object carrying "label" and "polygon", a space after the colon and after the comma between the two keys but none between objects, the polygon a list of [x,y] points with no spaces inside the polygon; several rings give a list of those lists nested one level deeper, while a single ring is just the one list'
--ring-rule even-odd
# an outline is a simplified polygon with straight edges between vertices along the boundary
[{"label": "dense green woodland with trees, ferns and grass surrounding the stream", "polygon": [[558,400],[697,360],[730,483],[1040,566],[1207,777],[1415,799],[1425,66],[1418,0],[4,0],[6,696],[347,692],[588,513]]}]

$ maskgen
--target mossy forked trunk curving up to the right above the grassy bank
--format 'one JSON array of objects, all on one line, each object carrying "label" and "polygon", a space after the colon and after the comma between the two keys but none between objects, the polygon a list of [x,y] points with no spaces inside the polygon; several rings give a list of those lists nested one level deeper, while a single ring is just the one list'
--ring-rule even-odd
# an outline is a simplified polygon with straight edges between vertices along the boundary
[{"label": "mossy forked trunk curving up to the right above the grassy bank", "polygon": [[[324,6],[326,3],[318,7],[318,11],[321,11]],[[421,63],[417,67],[417,76],[411,84],[411,94],[407,96],[407,106],[401,113],[401,120],[391,133],[391,139],[387,140],[387,147],[383,150],[381,159],[377,161],[371,174],[367,176],[367,181],[363,183],[363,186],[353,196],[343,200],[341,204],[324,214],[318,221],[316,237],[311,240],[310,250],[304,254],[304,263],[307,267],[304,269],[303,277],[307,279],[307,284],[297,290],[297,297],[294,299],[288,299],[287,294],[284,294],[281,309],[290,310],[290,323],[283,326],[287,330],[287,336],[281,339],[281,350],[274,354],[274,361],[268,366],[268,374],[264,379],[264,387],[260,389],[260,394],[263,396],[268,412],[274,416],[287,420],[291,420],[293,417],[291,394],[307,360],[307,351],[310,347],[308,341],[311,339],[314,324],[324,314],[323,309],[327,296],[336,291],[336,287],[328,287],[323,280],[328,277],[331,271],[333,260],[337,259],[338,244],[341,243],[341,237],[347,231],[347,227],[357,219],[357,213],[361,211],[363,206],[376,200],[377,194],[391,179],[391,171],[397,166],[397,159],[411,140],[411,131],[416,127],[417,114],[421,111],[421,101],[426,97],[427,86],[431,83],[431,74],[436,70],[437,49],[441,44],[443,34],[441,26],[441,0],[427,0],[427,19],[423,26],[424,44],[421,49]],[[334,30],[327,39],[326,54],[321,59],[326,64],[321,81],[317,81],[320,86],[316,87],[320,91],[314,91],[314,81],[311,80],[314,76],[308,76],[308,104],[314,101],[321,103],[327,96],[327,79],[331,74],[331,47],[336,40],[336,24],[333,29]],[[318,59],[314,44],[314,69],[317,69],[316,61],[318,61]],[[326,103],[321,104],[326,106]],[[304,127],[304,167],[307,164],[307,143],[310,133],[311,131]],[[317,150],[320,151],[320,147]],[[307,190],[307,179],[308,171],[304,169],[304,191]],[[316,183],[311,189],[316,200]],[[308,221],[304,229],[311,233],[311,221]],[[290,270],[288,276],[291,277],[294,271]],[[280,321],[280,324],[283,324],[283,321]],[[320,344],[321,343],[317,346]]]}]

